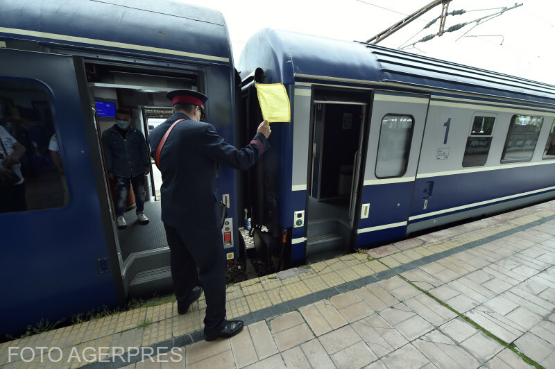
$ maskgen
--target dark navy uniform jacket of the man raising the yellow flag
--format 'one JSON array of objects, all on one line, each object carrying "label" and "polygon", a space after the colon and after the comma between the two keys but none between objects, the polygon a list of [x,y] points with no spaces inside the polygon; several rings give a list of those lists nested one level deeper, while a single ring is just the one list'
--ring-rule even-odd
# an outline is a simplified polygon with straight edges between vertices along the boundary
[{"label": "dark navy uniform jacket of the man raising the yellow flag", "polygon": [[171,124],[181,118],[186,120],[173,128],[160,154],[162,221],[195,234],[219,232],[216,164],[248,169],[270,145],[257,133],[250,144],[237,149],[223,141],[212,124],[177,112],[148,135],[151,155]]}]

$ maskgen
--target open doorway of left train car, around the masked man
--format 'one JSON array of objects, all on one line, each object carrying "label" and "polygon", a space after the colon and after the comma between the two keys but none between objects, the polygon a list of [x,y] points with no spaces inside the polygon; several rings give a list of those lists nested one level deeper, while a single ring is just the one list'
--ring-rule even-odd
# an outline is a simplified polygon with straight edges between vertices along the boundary
[{"label": "open doorway of left train car, around the masked man", "polygon": [[[204,89],[203,74],[198,67],[180,65],[180,69],[162,69],[158,65],[137,67],[123,62],[85,60],[89,103],[96,108],[97,144],[102,146],[104,157],[109,148],[101,137],[114,137],[117,109],[130,114],[130,126],[139,130],[141,139],[148,140],[149,130],[171,117],[171,102],[165,97],[171,89]],[[119,135],[119,133],[118,133]],[[119,138],[119,136],[116,137]],[[144,138],[143,138],[144,137]],[[147,144],[147,151],[149,148]],[[144,215],[148,223],[139,222],[138,194],[133,187],[123,209],[126,226],[116,228],[117,214],[115,180],[110,179],[104,160],[103,177],[108,182],[112,223],[117,234],[117,248],[122,259],[122,278],[128,293],[143,297],[152,293],[170,293],[172,289],[169,248],[161,220],[160,186],[162,175],[151,157],[148,157],[149,173],[144,176]],[[121,175],[121,174],[120,174]]]}]

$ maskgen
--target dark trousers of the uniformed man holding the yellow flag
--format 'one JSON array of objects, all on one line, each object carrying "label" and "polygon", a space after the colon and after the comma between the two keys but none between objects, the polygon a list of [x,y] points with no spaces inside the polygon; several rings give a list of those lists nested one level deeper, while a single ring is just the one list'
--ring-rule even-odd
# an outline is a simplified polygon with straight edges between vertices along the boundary
[{"label": "dark trousers of the uniformed man holding the yellow flag", "polygon": [[178,302],[184,301],[198,283],[197,267],[206,299],[204,327],[219,331],[225,320],[225,255],[221,231],[199,230],[191,234],[183,228],[164,224],[171,251],[171,279]]}]

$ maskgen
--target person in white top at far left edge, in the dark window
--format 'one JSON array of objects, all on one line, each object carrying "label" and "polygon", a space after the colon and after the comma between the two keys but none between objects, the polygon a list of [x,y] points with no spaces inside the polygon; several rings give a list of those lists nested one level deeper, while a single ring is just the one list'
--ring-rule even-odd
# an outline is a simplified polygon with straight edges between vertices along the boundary
[{"label": "person in white top at far left edge, in the dark window", "polygon": [[0,214],[27,209],[25,182],[19,163],[24,154],[25,146],[0,126]]}]

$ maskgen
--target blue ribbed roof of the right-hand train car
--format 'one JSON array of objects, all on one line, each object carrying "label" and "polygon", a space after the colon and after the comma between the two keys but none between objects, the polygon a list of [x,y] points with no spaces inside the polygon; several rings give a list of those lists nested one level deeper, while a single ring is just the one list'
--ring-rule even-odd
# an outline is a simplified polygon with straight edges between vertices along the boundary
[{"label": "blue ribbed roof of the right-hand train car", "polygon": [[264,69],[268,83],[320,78],[349,83],[400,83],[555,104],[555,86],[364,42],[264,29],[241,53],[245,78]]}]

